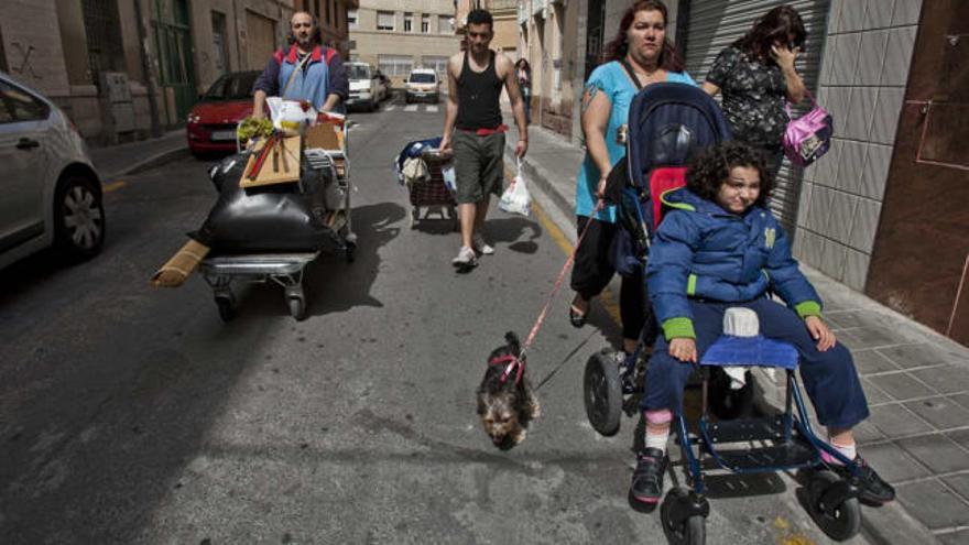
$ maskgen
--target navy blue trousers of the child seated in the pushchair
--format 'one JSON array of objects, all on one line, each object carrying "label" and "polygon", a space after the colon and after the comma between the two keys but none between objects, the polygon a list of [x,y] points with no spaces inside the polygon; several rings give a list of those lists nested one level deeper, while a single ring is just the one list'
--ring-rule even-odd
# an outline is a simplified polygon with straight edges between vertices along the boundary
[{"label": "navy blue trousers of the child seated in the pushchair", "polygon": [[[794,310],[765,297],[745,303],[693,299],[689,303],[700,358],[723,333],[723,313],[727,308],[750,308],[758,314],[764,337],[790,342],[797,349],[801,356],[801,379],[821,425],[850,428],[868,417],[868,402],[861,390],[851,352],[841,342],[836,342],[827,351],[819,351],[817,341],[810,338],[804,320]],[[643,411],[668,408],[682,414],[683,391],[695,369],[695,364],[669,356],[668,344],[660,334],[646,368],[646,391],[640,401],[640,407]]]}]

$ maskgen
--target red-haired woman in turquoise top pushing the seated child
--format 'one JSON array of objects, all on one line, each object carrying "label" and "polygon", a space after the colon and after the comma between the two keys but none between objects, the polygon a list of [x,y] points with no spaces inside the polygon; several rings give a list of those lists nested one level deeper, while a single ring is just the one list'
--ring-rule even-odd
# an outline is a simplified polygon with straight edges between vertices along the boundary
[{"label": "red-haired woman in turquoise top pushing the seated child", "polygon": [[[596,67],[586,81],[583,95],[583,133],[586,157],[578,173],[576,215],[578,232],[591,221],[579,246],[571,272],[576,292],[569,308],[569,320],[581,327],[589,312],[589,302],[609,284],[614,269],[609,261],[609,247],[616,233],[616,207],[607,206],[592,216],[606,188],[606,177],[625,155],[624,129],[629,105],[641,87],[657,81],[696,83],[683,72],[683,62],[666,40],[666,6],[658,0],[633,3],[619,24],[619,33],[603,51],[605,63]],[[635,80],[633,80],[635,78]],[[620,137],[622,133],[622,137]],[[645,324],[643,281],[640,276],[623,277],[619,296],[622,317],[623,351],[632,352]]]}]

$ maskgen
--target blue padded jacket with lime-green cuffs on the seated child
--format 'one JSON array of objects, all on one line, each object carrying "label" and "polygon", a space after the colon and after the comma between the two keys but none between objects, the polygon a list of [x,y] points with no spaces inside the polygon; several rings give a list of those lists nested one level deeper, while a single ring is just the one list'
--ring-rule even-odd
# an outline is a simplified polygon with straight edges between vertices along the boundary
[{"label": "blue padded jacket with lime-green cuffs on the seated child", "polygon": [[772,290],[802,318],[820,315],[820,297],[769,210],[753,206],[738,216],[685,187],[661,198],[667,211],[653,237],[646,277],[666,339],[696,337],[690,297],[744,302]]}]

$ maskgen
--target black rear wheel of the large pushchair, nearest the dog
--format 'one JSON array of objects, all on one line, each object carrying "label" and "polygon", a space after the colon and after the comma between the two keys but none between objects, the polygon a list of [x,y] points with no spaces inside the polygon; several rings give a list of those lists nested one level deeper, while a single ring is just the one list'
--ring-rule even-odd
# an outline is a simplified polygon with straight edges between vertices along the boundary
[{"label": "black rear wheel of the large pushchair, nearest the dog", "polygon": [[607,437],[619,432],[622,416],[622,384],[614,355],[608,349],[594,353],[586,362],[583,382],[589,424]]}]

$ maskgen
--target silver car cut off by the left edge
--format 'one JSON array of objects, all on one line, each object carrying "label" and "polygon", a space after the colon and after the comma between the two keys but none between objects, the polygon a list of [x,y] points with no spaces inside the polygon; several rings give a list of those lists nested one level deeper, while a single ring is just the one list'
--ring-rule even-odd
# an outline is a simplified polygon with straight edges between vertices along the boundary
[{"label": "silver car cut off by the left edge", "polygon": [[54,102],[0,72],[0,266],[55,246],[70,260],[105,242],[101,182]]}]

